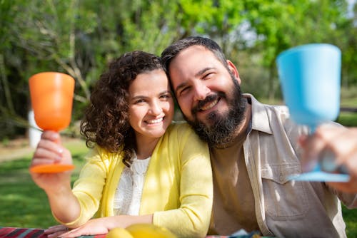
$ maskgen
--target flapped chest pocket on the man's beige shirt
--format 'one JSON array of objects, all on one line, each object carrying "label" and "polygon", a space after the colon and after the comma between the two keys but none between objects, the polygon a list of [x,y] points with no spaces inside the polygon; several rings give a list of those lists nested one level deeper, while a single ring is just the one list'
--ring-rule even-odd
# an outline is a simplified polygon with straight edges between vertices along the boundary
[{"label": "flapped chest pocket on the man's beige shirt", "polygon": [[299,219],[309,209],[304,182],[288,180],[301,173],[300,165],[266,165],[261,168],[265,210],[274,219]]}]

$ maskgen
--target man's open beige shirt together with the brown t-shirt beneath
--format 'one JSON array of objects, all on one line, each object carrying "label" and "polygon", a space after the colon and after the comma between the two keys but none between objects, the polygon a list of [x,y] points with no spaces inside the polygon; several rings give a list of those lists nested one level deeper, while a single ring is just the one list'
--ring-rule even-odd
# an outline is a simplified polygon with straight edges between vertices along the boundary
[{"label": "man's open beige shirt together with the brown t-shirt beneath", "polygon": [[[211,148],[215,188],[210,232],[249,230],[254,227],[253,217],[264,236],[346,237],[340,200],[347,207],[357,207],[357,195],[336,192],[323,182],[289,181],[288,175],[301,173],[297,140],[308,129],[291,121],[286,106],[264,105],[252,95],[245,96],[251,98],[252,129],[243,142],[244,157],[231,152],[241,146],[226,151]],[[226,169],[214,168],[224,160],[234,160],[226,162],[230,167],[244,160],[248,180],[236,180],[233,172],[227,175]],[[243,171],[239,166],[238,170]],[[247,202],[252,199],[249,185],[244,185],[248,181],[253,206]],[[242,205],[248,207],[235,209]]]}]

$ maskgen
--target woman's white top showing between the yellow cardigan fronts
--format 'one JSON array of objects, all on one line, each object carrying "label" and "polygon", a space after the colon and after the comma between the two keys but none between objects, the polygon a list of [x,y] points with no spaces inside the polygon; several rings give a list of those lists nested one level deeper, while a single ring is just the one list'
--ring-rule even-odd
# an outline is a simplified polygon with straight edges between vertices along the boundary
[{"label": "woman's white top showing between the yellow cardigan fronts", "polygon": [[114,214],[139,215],[144,177],[150,158],[138,160],[135,156],[131,167],[124,168],[114,196]]}]

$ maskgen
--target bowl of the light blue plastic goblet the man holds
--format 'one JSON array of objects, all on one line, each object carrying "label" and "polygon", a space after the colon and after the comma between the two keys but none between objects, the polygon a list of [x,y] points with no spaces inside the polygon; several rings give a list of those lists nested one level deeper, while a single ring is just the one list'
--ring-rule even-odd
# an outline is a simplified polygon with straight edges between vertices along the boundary
[{"label": "bowl of the light blue plastic goblet the man holds", "polygon": [[326,43],[288,49],[276,60],[291,117],[312,130],[336,120],[340,110],[341,51]]}]

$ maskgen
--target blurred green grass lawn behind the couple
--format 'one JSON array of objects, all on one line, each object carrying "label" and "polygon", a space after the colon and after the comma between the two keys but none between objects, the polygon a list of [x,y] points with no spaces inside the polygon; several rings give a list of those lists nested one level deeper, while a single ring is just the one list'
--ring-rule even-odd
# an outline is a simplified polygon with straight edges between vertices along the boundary
[{"label": "blurred green grass lawn behind the couple", "polygon": [[[72,182],[84,164],[86,148],[71,148],[76,170]],[[49,202],[43,190],[32,182],[29,175],[31,155],[19,160],[0,162],[0,227],[46,228],[57,222],[51,215]],[[357,210],[343,207],[348,237],[357,237]]]}]

